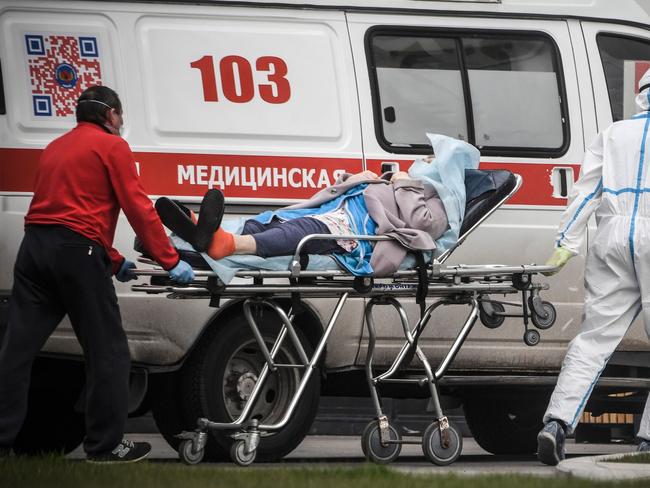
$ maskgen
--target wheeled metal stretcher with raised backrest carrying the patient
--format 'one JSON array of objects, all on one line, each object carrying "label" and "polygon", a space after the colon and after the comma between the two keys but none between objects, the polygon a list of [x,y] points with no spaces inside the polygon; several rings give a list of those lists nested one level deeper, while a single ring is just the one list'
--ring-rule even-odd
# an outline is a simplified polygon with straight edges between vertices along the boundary
[{"label": "wheeled metal stretcher with raised backrest carrying the patient", "polygon": [[[473,189],[472,182],[479,181]],[[399,456],[404,443],[413,443],[401,438],[399,431],[390,423],[382,410],[380,385],[386,383],[416,384],[426,387],[431,396],[433,418],[422,433],[421,442],[425,456],[433,463],[446,465],[454,462],[461,454],[462,437],[449,423],[441,407],[438,382],[443,378],[454,357],[462,347],[476,320],[480,317],[489,328],[499,327],[506,317],[521,317],[524,324],[524,341],[529,346],[540,340],[537,329],[547,329],[555,322],[555,309],[549,302],[541,299],[540,292],[547,285],[535,281],[536,275],[553,271],[549,266],[538,265],[472,265],[444,266],[453,250],[462,244],[501,204],[507,201],[521,185],[521,178],[508,171],[477,171],[466,173],[468,185],[465,218],[456,246],[440,256],[426,262],[420,256],[415,260],[414,269],[401,269],[390,278],[352,276],[341,269],[309,270],[306,268],[302,249],[312,239],[366,239],[379,241],[390,239],[386,236],[333,236],[331,234],[305,237],[290,259],[288,269],[281,271],[239,270],[233,283],[225,284],[209,268],[198,253],[180,251],[182,259],[195,268],[196,279],[190,285],[178,286],[169,282],[168,275],[161,269],[138,269],[139,276],[151,277],[148,284],[136,284],[132,289],[145,293],[164,293],[169,298],[203,298],[210,300],[211,306],[219,306],[221,299],[243,299],[246,321],[265,358],[265,364],[250,391],[241,414],[232,422],[213,422],[207,418],[197,420],[197,428],[183,432],[179,448],[181,459],[188,464],[200,462],[204,455],[208,432],[211,430],[232,431],[234,442],[231,447],[232,460],[242,466],[251,464],[256,457],[256,449],[262,436],[285,427],[298,405],[310,378],[322,360],[325,347],[332,330],[337,324],[346,302],[353,297],[363,297],[365,304],[365,325],[369,344],[365,363],[366,380],[374,405],[376,418],[364,429],[361,443],[366,457],[374,462],[388,463]],[[140,262],[155,264],[146,257]],[[492,295],[519,295],[518,303],[505,302],[492,298]],[[303,347],[293,320],[303,299],[338,298],[337,304],[322,331],[320,340],[313,352],[307,353]],[[410,324],[406,311],[400,302],[403,298],[416,297],[421,307],[420,319]],[[289,310],[278,300],[289,298]],[[427,305],[427,301],[430,303]],[[418,340],[431,322],[434,312],[440,307],[466,305],[469,309],[463,326],[446,355],[434,369],[418,345]],[[515,312],[507,312],[506,306],[517,307]],[[376,347],[374,313],[378,307],[393,307],[400,318],[404,343],[388,369],[380,373],[373,368]],[[260,332],[258,317],[261,310],[277,315],[281,327],[272,345],[267,344]],[[530,327],[530,323],[534,327]],[[298,361],[283,363],[278,361],[278,351],[285,341],[290,341],[297,352]],[[404,375],[402,370],[408,366],[413,356],[417,356],[423,373],[417,376]],[[265,424],[252,415],[253,406],[258,400],[269,375],[282,369],[300,372],[300,381],[288,408],[279,421]]]}]

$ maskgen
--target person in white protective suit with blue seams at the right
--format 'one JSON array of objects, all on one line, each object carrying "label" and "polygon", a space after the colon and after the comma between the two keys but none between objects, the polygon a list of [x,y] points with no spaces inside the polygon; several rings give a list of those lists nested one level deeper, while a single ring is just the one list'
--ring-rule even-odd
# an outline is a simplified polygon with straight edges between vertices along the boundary
[{"label": "person in white protective suit with blue seams at the right", "polygon": [[[636,102],[641,113],[615,122],[587,149],[547,261],[562,267],[576,255],[596,212],[582,326],[569,344],[537,436],[537,457],[544,464],[564,459],[566,434],[575,429],[598,377],[641,311],[650,335],[650,70],[639,82]],[[638,437],[638,450],[650,451],[648,402]]]}]

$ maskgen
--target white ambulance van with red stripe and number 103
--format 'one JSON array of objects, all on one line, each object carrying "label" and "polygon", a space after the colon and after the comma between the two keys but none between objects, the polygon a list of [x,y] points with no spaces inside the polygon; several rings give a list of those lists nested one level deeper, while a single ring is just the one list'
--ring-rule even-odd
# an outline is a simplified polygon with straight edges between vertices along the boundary
[{"label": "white ambulance van with red stripe and number 103", "polygon": [[[650,67],[649,24],[645,0],[0,0],[0,334],[39,155],[75,125],[75,100],[91,85],[119,93],[123,137],[152,199],[196,205],[220,188],[228,216],[309,197],[339,171],[377,172],[384,162],[407,169],[431,152],[426,132],[468,141],[482,168],[509,169],[523,186],[448,263],[543,263],[585,147],[635,113],[637,81]],[[136,260],[133,240],[122,216],[115,247]],[[456,357],[443,393],[463,405],[488,451],[535,450],[580,324],[583,270],[578,257],[548,278],[545,299],[558,318],[539,345],[526,346],[521,319],[507,319],[498,329],[476,327]],[[133,293],[130,284],[116,289],[133,359],[131,414],[153,410],[172,446],[199,416],[236,418],[263,361],[241,303],[210,308]],[[298,317],[307,345],[333,307],[314,300]],[[462,325],[464,310],[448,308],[420,340],[434,362]],[[258,459],[298,445],[321,392],[363,395],[362,310],[362,300],[346,307],[320,377],[289,425],[262,439]],[[417,307],[409,313],[416,317]],[[377,329],[381,367],[401,344],[401,328],[386,313]],[[34,366],[18,451],[69,450],[82,440],[81,357],[64,320]],[[588,410],[638,412],[649,366],[635,324]],[[291,371],[277,375],[257,417],[276,421],[295,387]],[[230,442],[212,436],[207,459],[227,457]]]}]

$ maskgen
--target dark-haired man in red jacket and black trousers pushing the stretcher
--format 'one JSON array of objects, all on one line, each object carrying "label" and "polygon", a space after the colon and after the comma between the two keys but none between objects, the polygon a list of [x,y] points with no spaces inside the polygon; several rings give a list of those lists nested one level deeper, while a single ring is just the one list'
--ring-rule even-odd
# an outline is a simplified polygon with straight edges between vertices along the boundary
[{"label": "dark-haired man in red jacket and black trousers pushing the stretcher", "polygon": [[77,103],[77,126],[43,151],[18,251],[7,332],[0,348],[0,455],[8,455],[27,411],[34,357],[65,314],[86,360],[86,438],[91,462],[137,461],[151,446],[123,439],[131,359],[112,276],[135,278],[113,248],[120,209],[172,279],[192,268],[170,245],[119,136],[122,105],[94,86]]}]

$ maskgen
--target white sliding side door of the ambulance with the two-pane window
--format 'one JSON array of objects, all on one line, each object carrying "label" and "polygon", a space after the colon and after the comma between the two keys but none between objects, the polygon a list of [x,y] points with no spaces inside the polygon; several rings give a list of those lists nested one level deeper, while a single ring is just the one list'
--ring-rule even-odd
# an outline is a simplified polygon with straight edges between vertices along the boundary
[{"label": "white sliding side door of the ambulance with the two-pane window", "polygon": [[[349,24],[368,167],[398,161],[406,170],[431,152],[426,132],[469,141],[481,149],[482,168],[509,169],[523,177],[523,186],[448,264],[543,262],[583,152],[566,22],[359,14]],[[540,346],[524,346],[521,319],[499,330],[478,326],[456,367],[559,366],[564,345],[556,341],[568,340],[575,328],[565,326],[580,317],[582,266],[576,259],[561,279],[549,279],[545,296],[559,317]],[[465,307],[454,308],[440,313],[421,342],[433,357],[448,349],[466,315]],[[417,308],[411,313],[415,319]],[[395,320],[387,314],[378,335],[396,336]],[[361,349],[359,358],[365,344]]]}]

